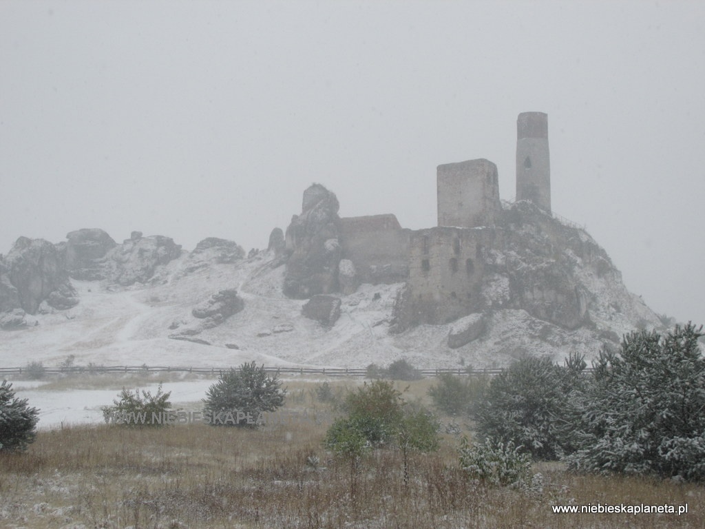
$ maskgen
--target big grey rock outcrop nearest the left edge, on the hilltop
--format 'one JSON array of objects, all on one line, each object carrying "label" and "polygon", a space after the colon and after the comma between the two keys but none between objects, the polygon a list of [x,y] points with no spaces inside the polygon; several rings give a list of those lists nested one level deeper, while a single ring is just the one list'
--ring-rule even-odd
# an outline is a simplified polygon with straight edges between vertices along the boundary
[{"label": "big grey rock outcrop nearest the left edge, on the hilltop", "polygon": [[[36,314],[44,300],[57,309],[71,308],[78,303],[59,250],[49,241],[18,238],[5,257],[2,269],[0,305],[5,310],[21,308]],[[13,307],[14,303],[19,307]]]}]

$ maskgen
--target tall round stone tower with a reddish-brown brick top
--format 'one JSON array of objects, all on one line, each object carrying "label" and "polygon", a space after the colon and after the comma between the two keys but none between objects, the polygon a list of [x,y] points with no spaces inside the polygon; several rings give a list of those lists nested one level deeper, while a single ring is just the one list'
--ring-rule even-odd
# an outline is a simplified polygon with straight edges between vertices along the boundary
[{"label": "tall round stone tower with a reddish-brown brick top", "polygon": [[548,115],[522,112],[517,118],[517,199],[551,212]]}]

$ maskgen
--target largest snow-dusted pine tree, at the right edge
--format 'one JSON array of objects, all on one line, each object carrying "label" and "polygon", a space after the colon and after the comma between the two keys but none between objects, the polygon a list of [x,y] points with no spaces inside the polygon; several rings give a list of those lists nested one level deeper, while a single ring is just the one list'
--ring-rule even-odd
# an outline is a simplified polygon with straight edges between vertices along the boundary
[{"label": "largest snow-dusted pine tree, at the right edge", "polygon": [[577,428],[572,470],[705,480],[702,327],[635,332],[602,351]]}]

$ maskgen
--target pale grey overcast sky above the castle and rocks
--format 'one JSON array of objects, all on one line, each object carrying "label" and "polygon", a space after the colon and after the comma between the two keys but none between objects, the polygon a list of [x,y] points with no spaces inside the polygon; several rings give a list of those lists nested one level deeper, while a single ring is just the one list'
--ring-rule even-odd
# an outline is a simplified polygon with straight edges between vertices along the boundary
[{"label": "pale grey overcast sky above the castle and rocks", "polygon": [[0,253],[102,228],[266,247],[313,182],[436,225],[436,166],[551,203],[659,313],[705,323],[705,2],[0,0]]}]

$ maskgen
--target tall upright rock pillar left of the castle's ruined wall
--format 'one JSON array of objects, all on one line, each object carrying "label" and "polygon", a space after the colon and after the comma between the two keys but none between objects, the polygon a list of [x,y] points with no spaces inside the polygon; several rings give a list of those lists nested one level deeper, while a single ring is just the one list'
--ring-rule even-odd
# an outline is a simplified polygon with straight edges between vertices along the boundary
[{"label": "tall upright rock pillar left of the castle's ruined wall", "polygon": [[305,299],[338,290],[341,260],[340,217],[336,195],[314,184],[304,191],[300,215],[286,229],[286,263],[283,291],[289,298]]}]

